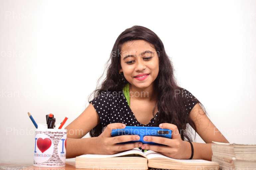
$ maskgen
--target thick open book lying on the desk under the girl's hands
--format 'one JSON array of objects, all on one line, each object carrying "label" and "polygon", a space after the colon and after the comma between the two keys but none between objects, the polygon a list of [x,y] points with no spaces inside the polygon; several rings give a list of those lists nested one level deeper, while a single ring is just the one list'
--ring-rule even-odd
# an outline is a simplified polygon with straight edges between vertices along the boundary
[{"label": "thick open book lying on the desk under the girl's hands", "polygon": [[75,167],[120,170],[147,170],[149,167],[176,170],[218,170],[219,164],[202,159],[174,159],[152,150],[143,153],[136,147],[113,155],[80,155],[75,158]]}]

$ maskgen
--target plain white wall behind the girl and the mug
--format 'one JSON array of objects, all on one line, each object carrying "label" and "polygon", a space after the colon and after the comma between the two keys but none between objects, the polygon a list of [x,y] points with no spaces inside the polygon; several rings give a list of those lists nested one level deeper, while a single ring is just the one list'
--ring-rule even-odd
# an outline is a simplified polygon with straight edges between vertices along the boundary
[{"label": "plain white wall behind the girl and the mug", "polygon": [[256,143],[255,0],[1,0],[0,162],[33,163],[27,112],[38,123],[66,116],[68,125],[88,106],[116,38],[134,25],[160,37],[179,85],[229,142]]}]

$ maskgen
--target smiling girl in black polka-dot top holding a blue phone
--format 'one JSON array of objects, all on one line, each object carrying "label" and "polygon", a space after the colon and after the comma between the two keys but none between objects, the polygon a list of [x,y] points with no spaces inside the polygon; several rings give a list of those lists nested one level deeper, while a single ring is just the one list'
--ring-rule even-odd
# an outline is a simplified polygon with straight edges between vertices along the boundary
[{"label": "smiling girl in black polka-dot top holding a blue phone", "polygon": [[[81,154],[115,154],[140,147],[176,159],[211,160],[211,142],[228,142],[208,119],[203,105],[179,87],[160,38],[150,29],[133,26],[117,38],[106,78],[89,106],[67,129],[66,158]],[[201,107],[202,105],[202,107]],[[204,108],[204,107],[203,107]],[[205,143],[192,142],[188,124]],[[173,131],[172,139],[138,135],[111,137],[125,126],[153,126]],[[89,132],[91,138],[82,138]]]}]

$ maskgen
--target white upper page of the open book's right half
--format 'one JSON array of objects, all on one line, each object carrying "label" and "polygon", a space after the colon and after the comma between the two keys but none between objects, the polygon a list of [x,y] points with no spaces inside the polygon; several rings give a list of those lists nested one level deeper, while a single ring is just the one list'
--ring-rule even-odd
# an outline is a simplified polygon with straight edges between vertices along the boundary
[{"label": "white upper page of the open book's right half", "polygon": [[152,158],[165,158],[165,159],[170,159],[174,162],[185,162],[185,163],[211,163],[211,161],[207,161],[207,160],[203,160],[203,159],[174,159],[174,158],[170,158],[168,156],[162,155],[160,153],[157,153],[153,150],[147,150],[144,153],[148,159],[152,159]]}]

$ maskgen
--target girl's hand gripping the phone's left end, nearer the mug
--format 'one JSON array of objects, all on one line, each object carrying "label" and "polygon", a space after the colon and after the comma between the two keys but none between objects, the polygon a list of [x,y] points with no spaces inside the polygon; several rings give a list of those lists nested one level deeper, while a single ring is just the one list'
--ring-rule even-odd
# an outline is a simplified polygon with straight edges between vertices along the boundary
[{"label": "girl's hand gripping the phone's left end, nearer the mug", "polygon": [[[128,141],[138,141],[140,136],[138,135],[121,135],[111,137],[112,129],[122,129],[125,128],[125,124],[122,123],[111,123],[108,124],[105,130],[96,137],[95,143],[95,154],[116,154],[119,152],[123,152],[125,150],[130,150],[135,147],[141,147],[141,142],[134,143],[126,143],[126,144],[116,144],[120,142],[128,142]],[[138,138],[137,138],[138,137]]]}]

